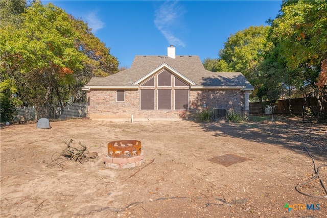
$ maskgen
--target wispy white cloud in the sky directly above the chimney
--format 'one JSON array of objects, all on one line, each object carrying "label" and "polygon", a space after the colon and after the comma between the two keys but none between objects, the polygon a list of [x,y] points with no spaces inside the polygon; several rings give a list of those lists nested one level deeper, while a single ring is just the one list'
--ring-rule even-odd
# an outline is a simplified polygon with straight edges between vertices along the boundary
[{"label": "wispy white cloud in the sky directly above the chimney", "polygon": [[154,24],[156,28],[166,37],[170,44],[185,47],[185,43],[177,38],[173,29],[178,29],[184,9],[178,5],[178,2],[165,2],[155,11]]}]

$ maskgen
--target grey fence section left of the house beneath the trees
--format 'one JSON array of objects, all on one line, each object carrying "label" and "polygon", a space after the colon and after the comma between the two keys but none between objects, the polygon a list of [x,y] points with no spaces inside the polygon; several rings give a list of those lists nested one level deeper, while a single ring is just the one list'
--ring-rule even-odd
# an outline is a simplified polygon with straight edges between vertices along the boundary
[{"label": "grey fence section left of the house beneath the trees", "polygon": [[[34,106],[17,108],[17,113],[13,117],[14,123],[26,123],[37,121],[40,118],[48,118],[51,120],[73,119],[87,117],[87,103],[72,103],[64,107],[60,111],[59,107],[42,108],[42,112],[38,111]],[[45,113],[44,113],[45,112]],[[40,115],[48,114],[48,115]],[[42,116],[42,117],[41,117]]]}]

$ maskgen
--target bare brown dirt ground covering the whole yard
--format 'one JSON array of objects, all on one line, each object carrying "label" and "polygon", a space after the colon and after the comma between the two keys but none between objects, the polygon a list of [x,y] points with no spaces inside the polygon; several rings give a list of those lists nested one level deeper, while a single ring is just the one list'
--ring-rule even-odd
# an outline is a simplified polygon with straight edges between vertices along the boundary
[{"label": "bare brown dirt ground covering the whole yard", "polygon": [[[303,124],[300,117],[241,124],[75,119],[51,122],[51,127],[1,128],[1,217],[327,214],[327,198],[308,197],[295,189],[315,175],[304,145],[317,167],[327,164],[326,124]],[[53,154],[65,149],[63,141],[70,139],[80,141],[89,152],[98,152],[99,158],[49,167]],[[126,139],[142,142],[142,165],[105,167],[102,157],[107,143]],[[229,166],[213,161],[226,154],[246,159]],[[320,177],[327,185],[327,167],[321,168]],[[326,195],[318,180],[300,189]],[[285,203],[295,205],[294,209],[288,212]],[[296,204],[314,207],[300,210]]]}]

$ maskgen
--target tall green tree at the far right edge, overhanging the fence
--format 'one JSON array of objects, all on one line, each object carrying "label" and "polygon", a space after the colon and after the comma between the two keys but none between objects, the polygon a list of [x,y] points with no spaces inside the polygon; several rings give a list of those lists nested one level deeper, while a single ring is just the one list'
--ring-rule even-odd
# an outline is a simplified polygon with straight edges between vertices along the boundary
[{"label": "tall green tree at the far right edge, overhanging the fence", "polygon": [[286,60],[287,67],[297,71],[293,75],[297,84],[314,90],[321,113],[321,101],[326,101],[327,96],[326,36],[325,1],[284,1],[281,12],[272,21],[272,40],[281,48],[279,55]]}]

